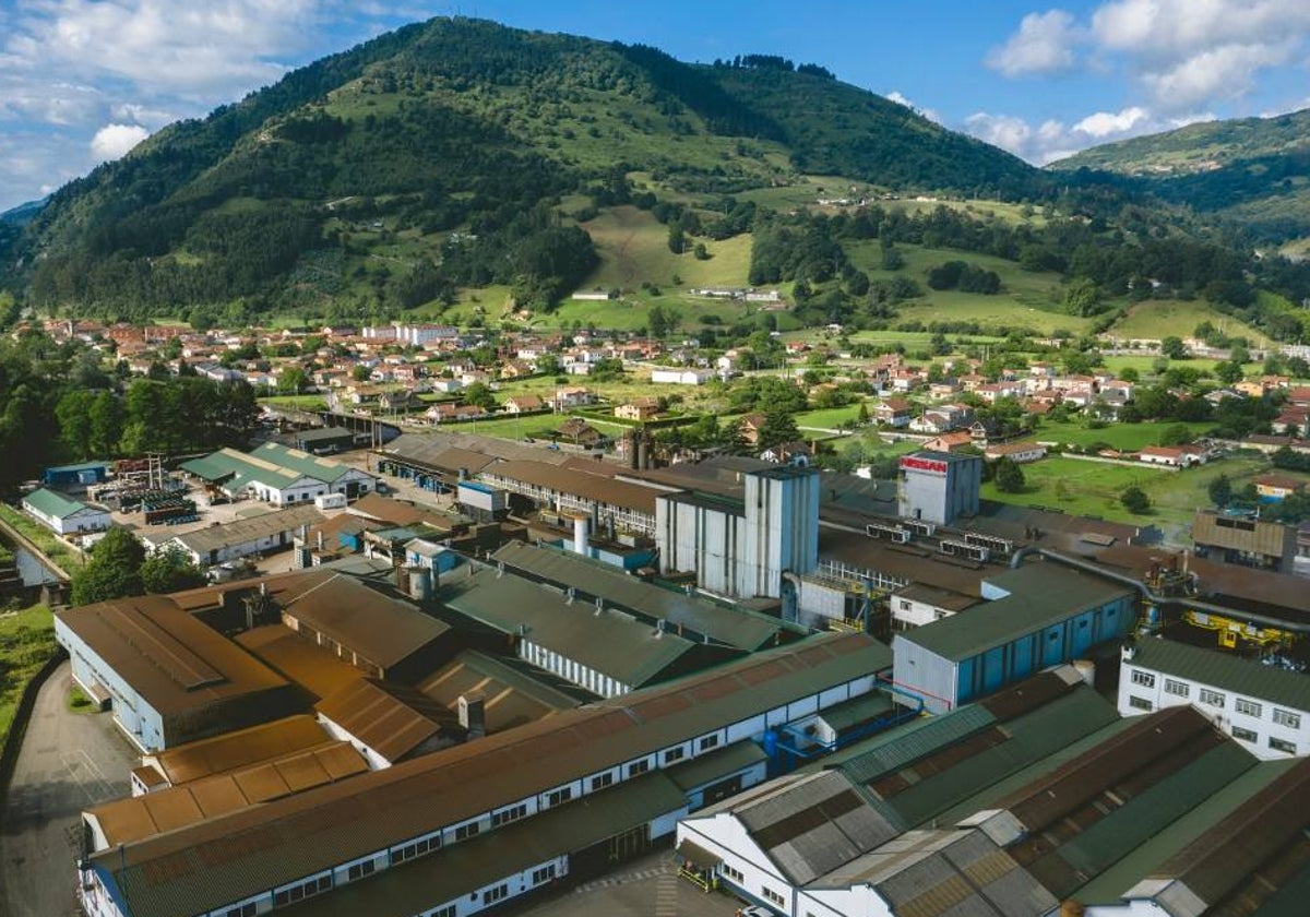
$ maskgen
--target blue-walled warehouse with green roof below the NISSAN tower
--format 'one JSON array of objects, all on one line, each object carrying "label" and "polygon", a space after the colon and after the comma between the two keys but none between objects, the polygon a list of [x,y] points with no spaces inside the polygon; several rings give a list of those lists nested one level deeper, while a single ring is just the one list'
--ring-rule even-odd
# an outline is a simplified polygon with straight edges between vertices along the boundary
[{"label": "blue-walled warehouse with green roof below the NISSAN tower", "polygon": [[1009,570],[984,582],[990,601],[897,633],[896,683],[921,694],[929,710],[950,710],[1123,637],[1136,596],[1049,562]]}]

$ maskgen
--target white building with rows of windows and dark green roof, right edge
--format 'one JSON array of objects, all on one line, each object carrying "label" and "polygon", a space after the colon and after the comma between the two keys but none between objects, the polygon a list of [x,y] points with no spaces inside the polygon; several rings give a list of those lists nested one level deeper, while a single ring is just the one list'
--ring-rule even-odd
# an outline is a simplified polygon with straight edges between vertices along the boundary
[{"label": "white building with rows of windows and dark green roof, right edge", "polygon": [[1191,705],[1260,758],[1310,755],[1310,677],[1165,639],[1124,647],[1119,713]]}]

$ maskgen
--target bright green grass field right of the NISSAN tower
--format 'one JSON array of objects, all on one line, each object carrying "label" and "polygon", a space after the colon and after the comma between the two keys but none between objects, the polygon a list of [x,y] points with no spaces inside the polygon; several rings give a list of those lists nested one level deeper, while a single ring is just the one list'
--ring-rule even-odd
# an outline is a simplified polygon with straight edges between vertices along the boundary
[{"label": "bright green grass field right of the NISSAN tower", "polygon": [[[1176,542],[1196,510],[1210,506],[1207,494],[1210,481],[1227,474],[1234,489],[1239,489],[1268,468],[1268,460],[1262,456],[1233,456],[1186,472],[1052,456],[1023,466],[1026,487],[1022,494],[1002,494],[994,482],[986,482],[982,498],[1121,523],[1155,524]],[[1128,512],[1119,502],[1119,495],[1131,486],[1141,487],[1151,500],[1151,510],[1145,516]]]}]

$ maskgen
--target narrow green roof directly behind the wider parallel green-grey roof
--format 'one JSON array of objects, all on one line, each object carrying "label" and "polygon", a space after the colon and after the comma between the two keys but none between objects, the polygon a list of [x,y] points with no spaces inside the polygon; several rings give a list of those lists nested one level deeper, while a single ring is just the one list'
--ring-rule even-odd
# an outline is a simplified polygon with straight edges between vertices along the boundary
[{"label": "narrow green roof directly behind the wider parallel green-grey roof", "polygon": [[671,592],[576,554],[511,541],[494,558],[532,576],[575,587],[587,595],[600,596],[608,603],[668,621],[676,627],[686,627],[740,650],[758,650],[774,639],[781,629],[777,620]]}]

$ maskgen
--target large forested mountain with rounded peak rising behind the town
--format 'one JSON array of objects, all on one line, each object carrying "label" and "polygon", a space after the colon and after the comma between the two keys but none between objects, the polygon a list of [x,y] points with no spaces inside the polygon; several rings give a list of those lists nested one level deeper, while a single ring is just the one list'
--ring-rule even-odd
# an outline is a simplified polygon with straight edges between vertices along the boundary
[{"label": "large forested mountain with rounded peak rising behind the town", "polygon": [[359,314],[487,284],[548,304],[595,269],[578,223],[597,208],[728,214],[728,195],[803,174],[1009,199],[1048,186],[821,67],[692,66],[438,18],[164,128],[56,191],[5,270],[37,305],[124,317],[342,301]]}]

